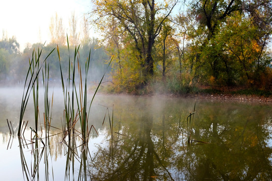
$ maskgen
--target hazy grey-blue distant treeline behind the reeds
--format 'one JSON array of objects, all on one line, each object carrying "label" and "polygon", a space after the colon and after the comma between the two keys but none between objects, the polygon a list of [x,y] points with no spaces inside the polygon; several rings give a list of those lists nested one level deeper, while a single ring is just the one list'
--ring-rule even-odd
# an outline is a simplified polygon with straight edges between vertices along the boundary
[{"label": "hazy grey-blue distant treeline behind the reeds", "polygon": [[[29,58],[32,57],[32,53],[38,53],[42,50],[41,58],[44,58],[57,47],[56,44],[50,43],[43,45],[41,43],[33,44],[26,47],[23,52],[19,51],[19,43],[16,38],[2,39],[0,41],[0,83],[1,84],[21,84],[24,83],[26,73],[29,68]],[[69,51],[67,45],[58,45],[60,52],[60,62],[62,65],[62,71],[67,72],[69,63]],[[109,60],[109,56],[106,54],[104,47],[98,45],[96,38],[90,38],[80,45],[79,48],[79,62],[84,66],[89,52],[91,51],[91,63],[90,63],[90,81],[98,81],[106,71],[105,64]],[[70,57],[74,59],[75,46],[70,47]],[[57,51],[55,50],[48,58],[49,63],[49,79],[52,82],[60,82],[60,69],[59,58]]]}]

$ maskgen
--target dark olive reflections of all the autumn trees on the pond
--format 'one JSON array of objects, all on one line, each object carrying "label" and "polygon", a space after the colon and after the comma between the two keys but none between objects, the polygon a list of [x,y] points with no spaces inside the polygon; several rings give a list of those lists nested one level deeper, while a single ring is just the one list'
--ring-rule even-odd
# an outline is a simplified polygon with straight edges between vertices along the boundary
[{"label": "dark olive reflections of all the autumn trees on the pond", "polygon": [[201,104],[196,107],[192,139],[201,142],[188,145],[186,115],[178,107],[170,109],[166,104],[154,112],[142,105],[143,109],[135,110],[137,114],[115,111],[120,118],[115,123],[115,134],[112,139],[108,136],[107,146],[100,146],[95,159],[89,161],[90,177],[269,180],[272,148],[267,141],[271,139],[271,118],[265,114],[269,111],[217,104],[217,109]]}]

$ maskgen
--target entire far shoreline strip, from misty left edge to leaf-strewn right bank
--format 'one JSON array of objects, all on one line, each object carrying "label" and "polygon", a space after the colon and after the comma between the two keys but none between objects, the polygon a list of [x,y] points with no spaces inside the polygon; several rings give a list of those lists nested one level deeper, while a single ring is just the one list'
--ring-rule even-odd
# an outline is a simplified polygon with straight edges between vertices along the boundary
[{"label": "entire far shoreline strip, from misty left edge to leaf-strewn right bank", "polygon": [[[58,82],[51,82],[52,87],[58,86]],[[1,87],[21,87],[21,84],[0,82]],[[60,87],[59,87],[60,88]],[[97,82],[89,87],[89,93],[94,93]],[[195,85],[180,92],[171,92],[165,87],[146,86],[134,92],[116,91],[111,81],[101,83],[98,94],[105,95],[127,95],[127,96],[165,96],[165,97],[184,97],[207,100],[232,100],[241,102],[263,102],[272,103],[272,90],[254,89],[245,86],[211,86]]]}]

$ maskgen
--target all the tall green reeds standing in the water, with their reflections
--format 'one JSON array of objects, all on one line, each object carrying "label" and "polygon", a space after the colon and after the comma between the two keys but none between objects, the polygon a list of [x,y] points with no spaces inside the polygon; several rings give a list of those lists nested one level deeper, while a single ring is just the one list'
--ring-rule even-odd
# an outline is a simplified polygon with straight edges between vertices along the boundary
[{"label": "all the tall green reeds standing in the water, with their reflections", "polygon": [[[63,134],[63,142],[68,146],[69,150],[67,151],[67,160],[66,160],[66,171],[65,171],[65,178],[70,179],[70,169],[72,167],[73,175],[75,171],[75,159],[79,160],[81,163],[79,169],[79,178],[81,180],[87,180],[87,172],[88,172],[88,154],[90,155],[88,149],[88,140],[92,129],[98,134],[97,130],[93,125],[88,125],[88,118],[90,116],[91,105],[94,101],[94,98],[98,92],[98,89],[101,85],[101,82],[106,74],[103,74],[95,93],[91,99],[91,102],[88,102],[88,72],[90,68],[90,61],[91,61],[91,50],[89,51],[89,57],[87,58],[84,68],[83,65],[80,64],[80,53],[79,49],[80,46],[75,46],[74,56],[70,56],[70,46],[69,40],[67,37],[67,47],[69,53],[69,66],[67,70],[67,77],[64,77],[64,70],[62,68],[62,61],[60,59],[60,52],[59,47],[56,47],[57,55],[59,59],[59,68],[60,68],[60,78],[61,78],[61,85],[62,85],[62,92],[63,92],[63,100],[64,100],[64,111],[63,111],[63,123],[62,126],[62,134]],[[34,116],[35,116],[35,128],[31,128],[31,144],[32,144],[32,154],[33,154],[33,164],[31,166],[31,170],[27,167],[26,160],[23,155],[22,150],[22,143],[20,142],[20,151],[21,151],[21,162],[23,173],[26,174],[26,178],[29,180],[31,178],[39,179],[39,163],[41,162],[42,155],[44,155],[44,163],[45,163],[45,180],[49,180],[49,164],[48,164],[48,155],[50,154],[50,148],[47,147],[49,144],[49,130],[51,127],[51,118],[52,118],[52,105],[53,105],[53,96],[52,93],[51,100],[49,98],[49,63],[46,61],[48,56],[54,51],[54,49],[46,56],[46,58],[41,61],[42,49],[38,49],[37,52],[35,49],[32,52],[32,58],[29,58],[29,68],[27,71],[25,84],[24,84],[24,92],[22,97],[21,103],[21,112],[20,112],[20,122],[19,122],[19,130],[18,136],[24,134],[26,126],[28,123],[25,124],[23,121],[23,116],[28,104],[28,100],[32,94],[33,96],[33,104],[34,104]],[[110,60],[107,68],[109,67],[112,59]],[[83,70],[82,70],[83,69]],[[78,72],[77,72],[78,71]],[[43,90],[44,90],[44,130],[45,130],[45,142],[44,139],[38,135],[38,120],[39,120],[39,79],[41,79],[40,73],[42,72],[42,82],[43,82]],[[76,73],[77,72],[77,73]],[[109,121],[111,125],[111,134],[113,138],[113,112],[112,118],[110,119],[110,114],[108,112]],[[76,130],[75,125],[77,122],[80,122],[80,129]],[[8,120],[7,120],[8,122]],[[10,127],[10,124],[8,122]],[[54,127],[53,127],[54,128]],[[43,131],[43,129],[41,129]],[[10,133],[12,128],[10,128]],[[79,132],[79,134],[77,134]],[[32,135],[34,134],[34,136]],[[61,133],[60,133],[61,134]],[[76,135],[77,134],[77,135]],[[81,157],[79,158],[77,153],[77,148],[79,146],[76,145],[76,136],[80,135],[79,137],[82,139],[82,146],[81,149]],[[68,143],[66,143],[66,138],[68,137]],[[48,141],[47,141],[48,140]],[[72,141],[71,141],[72,140]],[[21,141],[21,138],[20,138]],[[39,143],[39,144],[38,144]],[[41,143],[41,144],[40,144]],[[26,144],[27,145],[27,144]],[[43,147],[39,147],[42,145]],[[47,148],[49,150],[47,150]],[[48,153],[49,151],[49,153]],[[77,158],[78,157],[78,158]],[[53,175],[52,175],[53,176]]]}]

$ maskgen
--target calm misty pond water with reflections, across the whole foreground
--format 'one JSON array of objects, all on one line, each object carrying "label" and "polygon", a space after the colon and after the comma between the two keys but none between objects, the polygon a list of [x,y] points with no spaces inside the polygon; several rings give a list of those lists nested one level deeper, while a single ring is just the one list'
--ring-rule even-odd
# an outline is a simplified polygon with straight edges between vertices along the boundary
[{"label": "calm misty pond water with reflections, across the whole foreground", "polygon": [[[82,147],[80,136],[70,143],[62,139],[63,98],[55,88],[51,123],[55,128],[51,127],[49,140],[43,139],[44,146],[31,139],[31,101],[24,116],[29,121],[24,138],[16,136],[21,96],[22,89],[0,88],[1,180],[272,178],[272,104],[98,95],[89,125],[99,135],[92,129],[88,146]],[[194,103],[195,114],[187,125]],[[42,110],[41,106],[41,120]],[[39,136],[44,138],[44,131]]]}]

